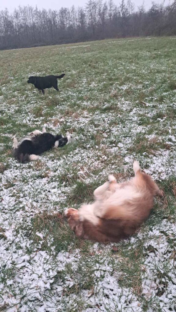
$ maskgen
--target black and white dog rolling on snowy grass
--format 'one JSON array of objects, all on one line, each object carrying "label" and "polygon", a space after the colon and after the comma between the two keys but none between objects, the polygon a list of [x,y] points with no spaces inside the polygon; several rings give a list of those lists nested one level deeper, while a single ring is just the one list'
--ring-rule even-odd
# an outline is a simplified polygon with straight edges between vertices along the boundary
[{"label": "black and white dog rolling on snowy grass", "polygon": [[13,154],[20,163],[36,160],[39,158],[38,155],[43,152],[53,147],[63,147],[72,139],[71,135],[66,137],[61,134],[53,135],[46,132],[45,128],[43,128],[42,132],[39,130],[31,132],[30,136],[23,139],[20,143],[18,143],[16,138],[13,139]]}]

